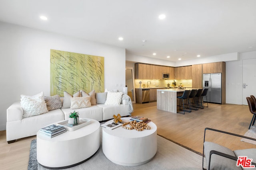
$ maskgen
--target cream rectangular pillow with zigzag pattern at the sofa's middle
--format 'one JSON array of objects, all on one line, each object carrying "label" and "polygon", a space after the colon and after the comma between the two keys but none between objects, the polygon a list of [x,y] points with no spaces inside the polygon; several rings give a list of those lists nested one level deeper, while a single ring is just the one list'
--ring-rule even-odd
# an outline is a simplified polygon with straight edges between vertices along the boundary
[{"label": "cream rectangular pillow with zigzag pattern at the sofa's middle", "polygon": [[86,107],[91,107],[91,97],[74,97],[71,98],[71,109],[81,109],[81,108],[86,108]]}]

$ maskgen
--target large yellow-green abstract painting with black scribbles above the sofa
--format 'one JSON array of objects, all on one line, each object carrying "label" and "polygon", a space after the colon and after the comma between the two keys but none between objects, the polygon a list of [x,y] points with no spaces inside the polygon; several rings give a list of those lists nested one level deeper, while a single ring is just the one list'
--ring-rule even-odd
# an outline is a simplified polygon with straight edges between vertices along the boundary
[{"label": "large yellow-green abstract painting with black scribbles above the sofa", "polygon": [[50,95],[104,92],[104,57],[50,50]]}]

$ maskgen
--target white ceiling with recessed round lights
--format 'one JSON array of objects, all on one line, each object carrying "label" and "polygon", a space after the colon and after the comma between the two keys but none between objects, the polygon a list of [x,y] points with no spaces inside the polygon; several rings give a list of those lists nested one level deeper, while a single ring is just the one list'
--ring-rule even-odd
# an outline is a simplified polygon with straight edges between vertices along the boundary
[{"label": "white ceiling with recessed round lights", "polygon": [[256,0],[0,0],[0,21],[174,62],[256,51]]}]

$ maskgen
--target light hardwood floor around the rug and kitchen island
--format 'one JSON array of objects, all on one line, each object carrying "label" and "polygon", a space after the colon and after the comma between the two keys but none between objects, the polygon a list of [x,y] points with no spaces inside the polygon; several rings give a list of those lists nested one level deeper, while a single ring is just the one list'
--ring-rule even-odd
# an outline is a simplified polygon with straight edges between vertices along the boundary
[{"label": "light hardwood floor around the rug and kitchen island", "polygon": [[[244,135],[252,119],[248,106],[232,104],[209,104],[209,107],[192,110],[191,113],[176,114],[156,109],[156,102],[134,104],[132,115],[151,119],[158,127],[157,133],[202,153],[204,128],[211,127]],[[6,131],[0,131],[0,169],[26,170],[30,143],[36,136],[7,144]],[[238,137],[209,133],[208,141],[214,141],[230,149],[256,148],[256,145],[241,142]]]}]

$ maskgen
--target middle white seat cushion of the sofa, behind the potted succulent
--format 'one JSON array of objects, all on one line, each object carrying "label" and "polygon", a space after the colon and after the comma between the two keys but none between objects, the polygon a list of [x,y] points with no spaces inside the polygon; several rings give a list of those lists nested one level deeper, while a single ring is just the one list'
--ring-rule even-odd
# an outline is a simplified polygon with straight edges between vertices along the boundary
[{"label": "middle white seat cushion of the sofa, behind the potted succulent", "polygon": [[[61,109],[64,113],[65,120],[68,119],[70,112],[73,112],[74,109],[66,108]],[[95,119],[97,121],[103,120],[103,109],[102,107],[98,107],[97,105],[93,105],[91,107],[86,107],[82,109],[76,109],[77,112],[79,112],[80,118],[89,118],[89,119]]]}]

